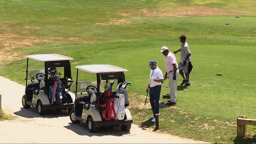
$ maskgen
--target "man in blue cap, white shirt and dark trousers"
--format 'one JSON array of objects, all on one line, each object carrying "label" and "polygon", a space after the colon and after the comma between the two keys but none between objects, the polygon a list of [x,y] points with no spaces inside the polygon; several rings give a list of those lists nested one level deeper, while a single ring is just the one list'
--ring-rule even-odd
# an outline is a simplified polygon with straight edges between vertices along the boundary
[{"label": "man in blue cap, white shirt and dark trousers", "polygon": [[161,69],[156,66],[156,61],[149,62],[148,67],[151,68],[149,85],[146,92],[149,92],[149,99],[153,115],[151,116],[152,122],[156,122],[155,114],[159,114],[159,99],[162,88],[162,82],[164,82],[163,73]]}]

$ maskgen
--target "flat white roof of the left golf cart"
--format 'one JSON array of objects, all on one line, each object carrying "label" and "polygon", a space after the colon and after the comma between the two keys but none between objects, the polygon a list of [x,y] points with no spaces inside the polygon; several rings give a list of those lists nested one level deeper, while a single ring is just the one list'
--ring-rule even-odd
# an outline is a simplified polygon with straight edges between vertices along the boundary
[{"label": "flat white roof of the left golf cart", "polygon": [[36,54],[25,57],[39,62],[74,60],[73,58],[70,58],[68,56],[62,56],[60,54]]}]

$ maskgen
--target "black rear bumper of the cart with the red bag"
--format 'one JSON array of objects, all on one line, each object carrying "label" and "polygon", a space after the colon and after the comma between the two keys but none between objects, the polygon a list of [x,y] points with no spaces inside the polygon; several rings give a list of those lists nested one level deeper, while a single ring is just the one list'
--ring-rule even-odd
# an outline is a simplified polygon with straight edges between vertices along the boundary
[{"label": "black rear bumper of the cart with the red bag", "polygon": [[94,121],[94,125],[96,127],[102,127],[102,126],[110,126],[110,125],[128,125],[133,122],[132,119],[128,120],[118,120],[118,121],[109,121],[109,122],[102,122],[102,121]]}]

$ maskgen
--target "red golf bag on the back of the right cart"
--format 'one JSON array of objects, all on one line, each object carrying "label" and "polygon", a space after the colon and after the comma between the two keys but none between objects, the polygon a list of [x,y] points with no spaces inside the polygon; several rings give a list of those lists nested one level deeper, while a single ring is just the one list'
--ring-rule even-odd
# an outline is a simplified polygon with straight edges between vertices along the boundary
[{"label": "red golf bag on the back of the right cart", "polygon": [[[99,109],[102,112],[102,118],[105,121],[110,121],[115,118],[116,113],[111,92],[107,91],[107,87],[105,87],[104,96],[104,99],[100,98],[100,96],[98,97],[98,105],[100,106]],[[104,104],[101,105],[102,102],[104,102]]]}]

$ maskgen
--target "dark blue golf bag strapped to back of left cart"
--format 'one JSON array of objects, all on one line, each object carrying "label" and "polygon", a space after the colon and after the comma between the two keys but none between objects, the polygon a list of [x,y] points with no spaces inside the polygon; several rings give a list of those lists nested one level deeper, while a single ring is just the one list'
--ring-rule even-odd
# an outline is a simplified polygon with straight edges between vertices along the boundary
[{"label": "dark blue golf bag strapped to back of left cart", "polygon": [[[54,101],[55,101],[55,104],[61,104],[62,103],[61,86],[60,86],[60,82],[56,82],[56,83],[57,83],[57,87],[55,91],[56,93],[55,93]],[[54,93],[54,85],[51,85],[49,88],[49,98],[51,100],[53,99],[53,93]]]}]

